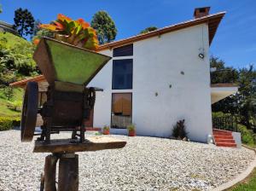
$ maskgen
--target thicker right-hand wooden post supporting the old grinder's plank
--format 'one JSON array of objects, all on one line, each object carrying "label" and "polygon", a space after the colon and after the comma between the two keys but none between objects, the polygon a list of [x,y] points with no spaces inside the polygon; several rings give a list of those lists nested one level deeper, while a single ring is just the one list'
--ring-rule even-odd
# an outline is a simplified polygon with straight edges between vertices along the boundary
[{"label": "thicker right-hand wooden post supporting the old grinder's plank", "polygon": [[79,191],[79,155],[61,154],[58,191]]}]

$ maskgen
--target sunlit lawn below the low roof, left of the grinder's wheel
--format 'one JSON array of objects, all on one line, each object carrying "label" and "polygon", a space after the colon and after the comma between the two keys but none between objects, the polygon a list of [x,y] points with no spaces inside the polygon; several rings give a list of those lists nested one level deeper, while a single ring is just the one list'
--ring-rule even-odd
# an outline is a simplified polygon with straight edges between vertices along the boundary
[{"label": "sunlit lawn below the low roof, left of the grinder's wheel", "polygon": [[[11,101],[21,101],[23,97],[22,89],[14,89],[14,96]],[[20,112],[9,109],[8,100],[3,95],[3,89],[0,89],[0,116],[2,117],[20,117]]]}]

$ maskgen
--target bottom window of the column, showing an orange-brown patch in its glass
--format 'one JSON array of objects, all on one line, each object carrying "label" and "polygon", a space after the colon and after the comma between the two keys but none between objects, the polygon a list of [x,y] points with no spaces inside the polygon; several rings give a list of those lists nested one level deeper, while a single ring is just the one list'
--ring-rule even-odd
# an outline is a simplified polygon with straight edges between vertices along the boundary
[{"label": "bottom window of the column, showing an orange-brown patch in its glass", "polygon": [[131,93],[112,94],[112,128],[124,129],[131,124],[131,106]]}]

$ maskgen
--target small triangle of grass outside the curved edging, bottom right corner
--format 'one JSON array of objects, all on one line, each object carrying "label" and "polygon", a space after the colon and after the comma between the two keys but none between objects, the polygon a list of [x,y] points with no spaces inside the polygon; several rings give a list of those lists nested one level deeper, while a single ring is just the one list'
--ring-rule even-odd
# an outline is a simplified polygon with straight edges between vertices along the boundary
[{"label": "small triangle of grass outside the curved edging, bottom right corner", "polygon": [[256,168],[253,169],[252,173],[243,181],[237,183],[232,188],[226,189],[225,191],[253,191],[256,190]]}]

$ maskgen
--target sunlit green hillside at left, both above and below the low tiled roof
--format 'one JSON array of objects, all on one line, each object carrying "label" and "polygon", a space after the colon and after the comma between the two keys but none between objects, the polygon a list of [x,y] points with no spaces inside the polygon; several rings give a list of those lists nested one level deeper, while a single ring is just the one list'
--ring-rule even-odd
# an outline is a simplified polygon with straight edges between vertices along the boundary
[{"label": "sunlit green hillside at left, both above and below the low tiled roof", "polygon": [[[9,32],[0,32],[0,116],[20,117],[20,111],[11,106],[21,105],[23,90],[14,89],[8,100],[4,90],[9,83],[38,75],[32,60],[32,43]],[[20,108],[18,109],[20,110]]]}]

